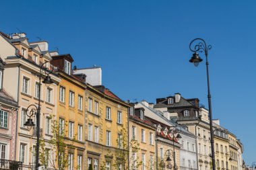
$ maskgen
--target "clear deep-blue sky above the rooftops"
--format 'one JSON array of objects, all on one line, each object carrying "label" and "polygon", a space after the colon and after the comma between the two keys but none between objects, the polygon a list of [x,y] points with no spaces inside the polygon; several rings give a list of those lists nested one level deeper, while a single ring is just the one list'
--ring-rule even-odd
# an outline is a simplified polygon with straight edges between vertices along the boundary
[{"label": "clear deep-blue sky above the rooftops", "polygon": [[[77,68],[102,67],[122,99],[155,102],[181,93],[207,106],[205,62],[189,63],[189,42],[209,51],[213,117],[256,161],[256,1],[0,1],[0,30],[26,32],[70,53]],[[205,61],[205,57],[201,54]]]}]

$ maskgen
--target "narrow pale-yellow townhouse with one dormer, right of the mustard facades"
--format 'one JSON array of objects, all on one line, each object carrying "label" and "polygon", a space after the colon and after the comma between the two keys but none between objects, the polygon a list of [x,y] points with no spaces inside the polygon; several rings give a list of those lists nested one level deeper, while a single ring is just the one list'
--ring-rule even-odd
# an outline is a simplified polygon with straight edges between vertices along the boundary
[{"label": "narrow pale-yellow townhouse with one dormer, right of the mustard facades", "polygon": [[141,162],[139,169],[152,170],[156,165],[156,127],[144,116],[144,108],[131,108],[129,113],[129,141],[137,140],[140,151],[132,153],[130,167],[135,169],[135,160]]}]

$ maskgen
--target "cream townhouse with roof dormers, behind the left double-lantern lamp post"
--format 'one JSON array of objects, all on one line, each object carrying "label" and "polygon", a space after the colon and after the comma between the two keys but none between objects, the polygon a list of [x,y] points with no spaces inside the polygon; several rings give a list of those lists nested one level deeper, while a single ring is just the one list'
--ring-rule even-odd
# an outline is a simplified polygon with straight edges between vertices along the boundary
[{"label": "cream townhouse with roof dormers, behind the left double-lantern lamp post", "polygon": [[[49,140],[51,138],[51,126],[48,124],[50,121],[49,117],[56,116],[56,93],[61,79],[56,74],[51,75],[54,83],[50,87],[46,87],[42,83],[39,93],[41,65],[47,62],[44,67],[47,69],[53,68],[49,63],[51,61],[51,53],[48,51],[48,42],[28,42],[26,34],[20,33],[6,37],[5,42],[3,44],[1,42],[1,46],[5,47],[5,56],[3,55],[5,58],[3,60],[6,63],[3,86],[20,106],[17,121],[15,160],[22,161],[24,170],[32,169],[36,164],[34,152],[37,130],[36,126],[24,126],[28,119],[26,109],[31,104],[37,106],[40,96],[40,136],[46,141]],[[32,119],[36,124],[36,120]],[[16,125],[13,124],[13,126]],[[50,148],[46,142],[47,147]],[[51,167],[50,164],[49,167]]]}]

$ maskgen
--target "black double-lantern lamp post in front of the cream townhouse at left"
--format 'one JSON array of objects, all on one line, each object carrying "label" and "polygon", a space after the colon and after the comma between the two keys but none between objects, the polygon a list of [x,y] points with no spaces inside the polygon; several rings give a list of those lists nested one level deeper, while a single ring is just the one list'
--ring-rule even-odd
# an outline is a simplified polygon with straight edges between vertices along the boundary
[{"label": "black double-lantern lamp post in front of the cream townhouse at left", "polygon": [[[29,105],[27,110],[26,110],[26,115],[29,117],[27,122],[24,124],[25,126],[35,126],[32,117],[36,117],[36,170],[38,170],[39,165],[39,138],[40,138],[40,92],[41,92],[41,79],[42,76],[45,75],[44,80],[42,81],[42,83],[44,83],[47,87],[49,87],[49,85],[51,85],[53,83],[53,80],[51,79],[51,77],[49,76],[51,73],[53,73],[53,69],[52,71],[49,71],[48,68],[44,68],[44,65],[46,65],[46,63],[49,61],[44,62],[41,67],[40,67],[40,73],[39,73],[39,87],[38,87],[38,106],[32,104]],[[28,114],[28,110],[32,108]]]}]

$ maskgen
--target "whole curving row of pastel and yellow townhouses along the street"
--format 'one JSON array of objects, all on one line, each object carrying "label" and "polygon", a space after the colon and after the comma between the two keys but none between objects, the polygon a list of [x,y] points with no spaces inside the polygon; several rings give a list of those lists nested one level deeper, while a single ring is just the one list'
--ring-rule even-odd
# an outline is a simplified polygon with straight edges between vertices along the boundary
[{"label": "whole curving row of pastel and yellow townhouses along the street", "polygon": [[[40,136],[51,152],[51,119],[57,120],[65,133],[68,170],[211,169],[208,111],[199,105],[199,99],[176,93],[156,99],[156,104],[125,102],[102,85],[100,67],[77,69],[70,54],[49,51],[46,41],[28,42],[24,33],[1,33],[0,44],[1,160],[34,169],[37,130],[24,124],[30,112],[26,108],[38,105],[40,98]],[[39,84],[44,62],[46,73],[53,70],[54,83],[49,87]],[[243,169],[241,141],[218,120],[214,128],[218,169]],[[182,138],[177,137],[176,129]],[[127,140],[127,148],[122,140]],[[129,148],[132,142],[139,144],[139,151]],[[47,166],[55,168],[50,161]]]}]

